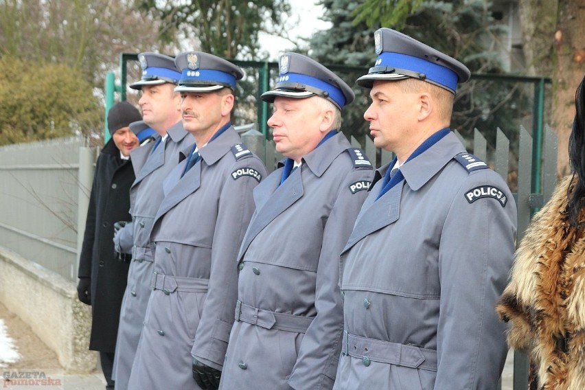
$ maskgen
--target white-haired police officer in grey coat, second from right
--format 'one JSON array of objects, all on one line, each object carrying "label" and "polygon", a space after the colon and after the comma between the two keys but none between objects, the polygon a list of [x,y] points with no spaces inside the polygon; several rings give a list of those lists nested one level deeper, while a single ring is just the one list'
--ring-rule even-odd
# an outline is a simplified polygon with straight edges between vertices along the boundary
[{"label": "white-haired police officer in grey coat, second from right", "polygon": [[[331,389],[341,347],[339,254],[373,170],[341,127],[351,88],[314,60],[279,60],[268,119],[286,157],[254,192],[221,389]],[[235,265],[235,264],[234,264]]]}]

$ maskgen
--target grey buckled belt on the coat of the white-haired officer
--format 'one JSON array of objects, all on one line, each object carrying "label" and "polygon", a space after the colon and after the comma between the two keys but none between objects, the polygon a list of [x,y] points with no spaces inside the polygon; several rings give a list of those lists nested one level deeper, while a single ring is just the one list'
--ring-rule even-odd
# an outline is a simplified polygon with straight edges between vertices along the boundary
[{"label": "grey buckled belt on the coat of the white-haired officer", "polygon": [[271,312],[253,308],[242,303],[240,299],[236,302],[236,321],[251,323],[266,329],[286,330],[287,332],[305,333],[311,325],[314,317],[297,316]]}]

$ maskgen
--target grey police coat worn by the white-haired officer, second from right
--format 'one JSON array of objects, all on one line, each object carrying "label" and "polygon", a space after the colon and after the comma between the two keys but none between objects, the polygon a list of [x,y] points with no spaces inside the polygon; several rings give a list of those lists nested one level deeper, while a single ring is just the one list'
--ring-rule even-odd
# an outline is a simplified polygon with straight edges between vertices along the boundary
[{"label": "grey police coat worn by the white-haired officer, second from right", "polygon": [[339,254],[373,176],[342,133],[254,191],[220,389],[331,389],[341,347]]}]

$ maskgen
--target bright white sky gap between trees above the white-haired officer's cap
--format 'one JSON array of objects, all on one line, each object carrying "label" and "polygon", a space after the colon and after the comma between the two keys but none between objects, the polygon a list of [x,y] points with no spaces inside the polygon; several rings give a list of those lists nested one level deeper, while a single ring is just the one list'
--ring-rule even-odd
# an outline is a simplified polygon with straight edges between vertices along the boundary
[{"label": "bright white sky gap between trees above the white-haired officer's cap", "polygon": [[[310,38],[319,30],[328,30],[331,23],[319,19],[323,14],[323,7],[315,5],[315,0],[290,1],[291,16],[286,22],[290,38]],[[279,54],[290,51],[294,45],[284,38],[270,36],[260,32],[260,45],[270,53],[268,60],[277,61]]]}]

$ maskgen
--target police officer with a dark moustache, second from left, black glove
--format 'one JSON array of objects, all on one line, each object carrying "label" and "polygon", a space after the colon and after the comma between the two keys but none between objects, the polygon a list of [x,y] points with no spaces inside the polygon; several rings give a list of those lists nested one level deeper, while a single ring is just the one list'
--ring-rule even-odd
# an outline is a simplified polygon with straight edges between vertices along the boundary
[{"label": "police officer with a dark moustache, second from left, black glove", "polygon": [[231,126],[242,70],[200,51],[176,57],[183,126],[195,139],[154,218],[152,293],[130,389],[216,389],[236,306],[234,260],[266,177]]}]

